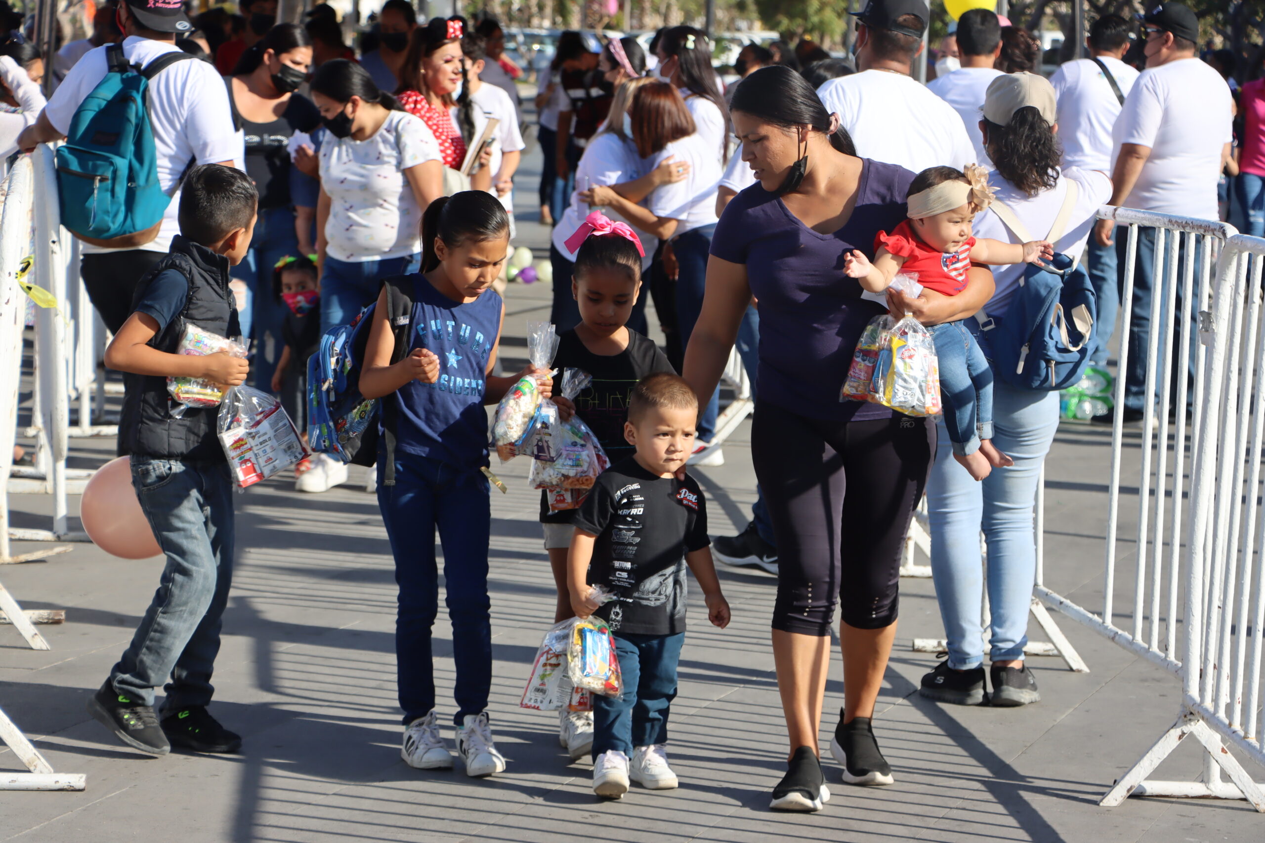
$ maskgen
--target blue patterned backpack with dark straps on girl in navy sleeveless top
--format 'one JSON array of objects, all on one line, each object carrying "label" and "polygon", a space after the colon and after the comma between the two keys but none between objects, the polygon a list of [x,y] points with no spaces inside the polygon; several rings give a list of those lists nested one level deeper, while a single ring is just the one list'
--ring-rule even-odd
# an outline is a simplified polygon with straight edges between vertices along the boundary
[{"label": "blue patterned backpack with dark straps on girl in navy sleeveless top", "polygon": [[[409,350],[412,324],[414,276],[396,276],[383,283],[387,311],[395,334],[391,363]],[[373,326],[377,302],[362,310],[350,325],[335,325],[320,337],[320,346],[307,359],[307,444],[342,463],[372,466],[378,454],[378,435],[387,450],[383,485],[395,485],[395,404],[361,394],[361,368]],[[383,409],[385,407],[385,409]]]}]

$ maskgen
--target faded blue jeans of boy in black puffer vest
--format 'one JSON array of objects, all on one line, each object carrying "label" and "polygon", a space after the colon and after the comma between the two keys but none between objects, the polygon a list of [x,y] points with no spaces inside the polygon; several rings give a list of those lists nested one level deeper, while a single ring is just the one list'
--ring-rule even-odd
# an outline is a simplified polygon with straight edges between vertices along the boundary
[{"label": "faded blue jeans of boy in black puffer vest", "polygon": [[132,485],[167,564],[110,685],[153,705],[154,688],[170,676],[164,712],[206,705],[233,584],[229,466],[133,456]]}]

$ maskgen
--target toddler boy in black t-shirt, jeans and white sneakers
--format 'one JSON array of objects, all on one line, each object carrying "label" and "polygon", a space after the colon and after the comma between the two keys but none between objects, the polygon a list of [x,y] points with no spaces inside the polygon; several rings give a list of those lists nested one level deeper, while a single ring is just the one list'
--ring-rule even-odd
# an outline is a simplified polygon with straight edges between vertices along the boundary
[{"label": "toddler boy in black t-shirt, jeans and white sneakers", "polygon": [[[694,449],[698,399],[674,374],[632,389],[624,436],[635,450],[597,478],[574,519],[568,556],[576,614],[601,617],[624,675],[619,698],[593,696],[593,792],[620,799],[629,780],[670,790],[668,709],[686,638],[686,566],[703,590],[707,618],[729,626],[707,538],[698,483],[678,479]],[[614,594],[598,605],[592,585]],[[631,761],[630,761],[631,758]]]}]

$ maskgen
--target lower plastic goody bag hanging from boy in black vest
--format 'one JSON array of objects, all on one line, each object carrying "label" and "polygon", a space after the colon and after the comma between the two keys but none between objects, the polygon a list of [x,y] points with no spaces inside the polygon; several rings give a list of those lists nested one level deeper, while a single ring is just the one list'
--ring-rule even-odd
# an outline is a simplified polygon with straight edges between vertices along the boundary
[{"label": "lower plastic goody bag hanging from boy in black vest", "polygon": [[309,455],[281,401],[250,387],[233,387],[225,394],[219,435],[240,489],[276,476]]}]

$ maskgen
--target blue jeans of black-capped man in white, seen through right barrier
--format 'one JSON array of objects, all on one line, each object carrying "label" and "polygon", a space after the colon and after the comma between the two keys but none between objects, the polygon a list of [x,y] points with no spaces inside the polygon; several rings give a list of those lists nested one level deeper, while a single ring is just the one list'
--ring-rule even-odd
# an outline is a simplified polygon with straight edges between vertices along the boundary
[{"label": "blue jeans of black-capped man in white, seen through right barrier", "polygon": [[[1175,236],[1170,233],[1169,236]],[[1194,248],[1194,281],[1195,288],[1198,289],[1199,282],[1199,264],[1202,263],[1200,248],[1202,244],[1198,239],[1192,244]],[[1116,234],[1116,249],[1117,257],[1121,265],[1125,265],[1125,259],[1127,254],[1127,238],[1123,231]],[[1185,257],[1187,244],[1185,239],[1182,240],[1182,246],[1178,249],[1178,296],[1176,296],[1176,308],[1178,313],[1182,312],[1182,284],[1184,283],[1185,273],[1183,272],[1183,260]],[[1125,377],[1125,407],[1127,409],[1144,409],[1146,403],[1146,368],[1150,360],[1150,341],[1151,341],[1151,296],[1163,296],[1160,300],[1160,325],[1156,327],[1163,327],[1163,325],[1171,320],[1176,320],[1176,313],[1168,312],[1168,283],[1169,283],[1169,265],[1168,265],[1168,245],[1164,246],[1164,278],[1161,279],[1161,286],[1159,289],[1152,289],[1152,273],[1155,270],[1155,229],[1137,229],[1137,259],[1133,264],[1133,305],[1131,308],[1131,324],[1128,327],[1128,365]],[[1199,341],[1199,331],[1197,330],[1198,320],[1198,307],[1192,303],[1190,308],[1190,353],[1189,353],[1189,377],[1194,377],[1194,356],[1195,346]],[[1173,326],[1173,377],[1178,377],[1176,372],[1176,350],[1178,344],[1182,341],[1182,326]],[[1159,349],[1160,355],[1164,354],[1164,349]],[[1155,373],[1156,379],[1163,377],[1163,356],[1156,361]],[[1160,384],[1155,385],[1156,396],[1160,393]],[[1187,401],[1192,401],[1194,393],[1187,393]],[[1175,399],[1175,393],[1174,393]],[[1004,450],[1004,449],[1003,449]]]}]

